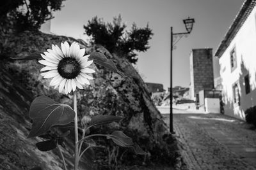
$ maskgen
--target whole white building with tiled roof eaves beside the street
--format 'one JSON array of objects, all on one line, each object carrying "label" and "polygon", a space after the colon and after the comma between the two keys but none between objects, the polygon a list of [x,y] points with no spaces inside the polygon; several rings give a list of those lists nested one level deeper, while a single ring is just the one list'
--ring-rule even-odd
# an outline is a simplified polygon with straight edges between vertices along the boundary
[{"label": "whole white building with tiled roof eaves beside the street", "polygon": [[215,56],[219,58],[225,115],[244,120],[256,105],[256,0],[244,1]]}]

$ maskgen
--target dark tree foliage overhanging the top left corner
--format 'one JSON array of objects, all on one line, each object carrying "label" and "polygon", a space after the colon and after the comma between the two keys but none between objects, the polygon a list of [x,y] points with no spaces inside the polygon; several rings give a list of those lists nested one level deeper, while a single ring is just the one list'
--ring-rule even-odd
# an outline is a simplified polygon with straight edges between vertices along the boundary
[{"label": "dark tree foliage overhanging the top left corner", "polygon": [[46,20],[53,18],[52,11],[61,10],[64,0],[4,0],[0,17],[10,15],[18,32],[38,30]]}]

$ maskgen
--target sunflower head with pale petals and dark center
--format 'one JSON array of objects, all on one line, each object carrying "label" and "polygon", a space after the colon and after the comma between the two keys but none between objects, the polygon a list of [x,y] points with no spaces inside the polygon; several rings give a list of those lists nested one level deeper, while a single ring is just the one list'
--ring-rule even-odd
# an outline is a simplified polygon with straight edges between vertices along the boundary
[{"label": "sunflower head with pale petals and dark center", "polygon": [[76,87],[83,89],[84,84],[90,85],[88,80],[92,76],[88,73],[95,73],[93,69],[88,68],[93,60],[88,60],[90,55],[84,56],[85,49],[80,49],[74,42],[68,45],[67,41],[61,43],[61,49],[57,45],[52,45],[52,49],[41,54],[44,60],[39,60],[40,64],[45,65],[40,71],[44,78],[52,78],[50,85],[54,89],[59,87],[59,92],[64,90],[65,94],[75,91]]}]

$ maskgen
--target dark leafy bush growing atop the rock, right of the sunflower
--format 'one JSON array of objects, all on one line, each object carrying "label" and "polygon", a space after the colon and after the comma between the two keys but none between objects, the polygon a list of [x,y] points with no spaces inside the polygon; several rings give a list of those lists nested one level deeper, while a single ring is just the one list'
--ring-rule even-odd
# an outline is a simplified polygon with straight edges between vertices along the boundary
[{"label": "dark leafy bush growing atop the rock, right of the sunflower", "polygon": [[148,27],[138,28],[132,24],[130,31],[125,31],[126,25],[122,24],[122,18],[113,18],[113,23],[105,23],[102,18],[93,17],[84,25],[85,34],[92,36],[94,43],[103,45],[109,52],[125,55],[131,63],[137,62],[137,53],[145,52],[148,40],[152,38],[152,29]]}]

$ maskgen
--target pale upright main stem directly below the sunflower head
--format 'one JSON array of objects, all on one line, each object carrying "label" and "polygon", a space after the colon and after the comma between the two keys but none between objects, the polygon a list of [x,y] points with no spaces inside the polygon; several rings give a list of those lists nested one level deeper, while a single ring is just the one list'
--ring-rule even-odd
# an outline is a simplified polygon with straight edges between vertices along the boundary
[{"label": "pale upright main stem directly below the sunflower head", "polygon": [[74,122],[75,122],[75,162],[74,162],[74,170],[78,170],[78,163],[79,163],[79,153],[78,153],[78,120],[77,120],[77,98],[76,98],[76,90],[74,92],[74,111],[76,113]]}]

